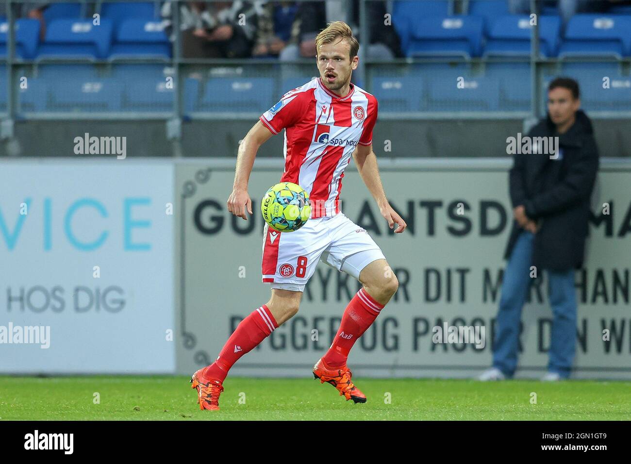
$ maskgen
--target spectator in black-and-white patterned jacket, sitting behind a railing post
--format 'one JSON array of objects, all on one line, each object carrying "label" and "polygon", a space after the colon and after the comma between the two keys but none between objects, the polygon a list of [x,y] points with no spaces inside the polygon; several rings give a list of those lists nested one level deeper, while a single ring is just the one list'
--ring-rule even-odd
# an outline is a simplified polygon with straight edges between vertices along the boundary
[{"label": "spectator in black-and-white patterned jacket, sitting behind a railing post", "polygon": [[[160,15],[172,42],[172,2],[162,5]],[[243,16],[240,16],[243,15]],[[247,1],[180,4],[182,57],[245,58],[252,56],[256,39],[256,8]]]}]

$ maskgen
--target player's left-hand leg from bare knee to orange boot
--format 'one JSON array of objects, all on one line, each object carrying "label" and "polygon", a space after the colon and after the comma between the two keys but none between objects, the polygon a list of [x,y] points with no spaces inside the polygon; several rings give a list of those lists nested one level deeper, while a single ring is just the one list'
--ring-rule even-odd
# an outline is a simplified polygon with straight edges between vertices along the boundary
[{"label": "player's left-hand leg from bare knee to orange boot", "polygon": [[219,409],[219,395],[230,367],[256,348],[274,329],[292,318],[298,312],[301,299],[302,292],[272,289],[267,304],[257,307],[239,323],[215,362],[199,369],[191,377],[191,388],[198,391],[200,409]]}]

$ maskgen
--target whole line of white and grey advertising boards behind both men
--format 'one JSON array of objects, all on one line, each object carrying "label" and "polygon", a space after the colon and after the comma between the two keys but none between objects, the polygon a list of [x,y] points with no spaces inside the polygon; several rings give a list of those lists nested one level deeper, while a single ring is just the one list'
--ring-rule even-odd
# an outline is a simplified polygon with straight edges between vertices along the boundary
[{"label": "whole line of white and grey advertising boards behind both men", "polygon": [[[353,348],[355,375],[464,378],[490,365],[509,167],[507,158],[380,160],[387,196],[408,222],[396,235],[357,171],[347,170],[342,211],[374,237],[400,282]],[[212,362],[240,319],[269,299],[259,202],[281,170],[281,160],[256,161],[246,222],[225,205],[233,159],[2,160],[0,326],[50,333],[45,349],[42,340],[4,342],[0,372],[190,374]],[[575,378],[631,378],[630,170],[628,160],[601,163],[586,264],[576,275]],[[545,272],[533,283],[518,377],[538,376],[547,363]],[[309,374],[357,290],[319,264],[298,314],[233,374]],[[435,337],[435,328],[447,335],[451,326],[471,327],[478,339]]]}]

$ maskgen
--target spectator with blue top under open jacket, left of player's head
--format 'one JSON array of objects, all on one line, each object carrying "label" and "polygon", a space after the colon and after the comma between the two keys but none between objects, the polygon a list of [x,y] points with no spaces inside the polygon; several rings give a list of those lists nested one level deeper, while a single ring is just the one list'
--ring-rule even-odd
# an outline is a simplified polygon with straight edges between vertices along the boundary
[{"label": "spectator with blue top under open jacket, left of player's head", "polygon": [[278,56],[292,37],[295,2],[266,2],[262,6],[253,56]]}]

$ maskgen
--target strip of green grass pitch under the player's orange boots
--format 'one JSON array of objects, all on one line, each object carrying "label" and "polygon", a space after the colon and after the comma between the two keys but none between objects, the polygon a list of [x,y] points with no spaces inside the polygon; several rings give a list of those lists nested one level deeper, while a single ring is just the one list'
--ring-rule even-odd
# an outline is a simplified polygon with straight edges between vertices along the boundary
[{"label": "strip of green grass pitch under the player's orange boots", "polygon": [[[631,383],[353,379],[346,402],[315,379],[228,378],[201,411],[185,376],[0,376],[0,420],[627,420]],[[531,393],[536,404],[531,404]],[[95,403],[98,393],[99,403]],[[389,395],[388,395],[389,393]],[[387,402],[389,398],[390,402]]]}]

